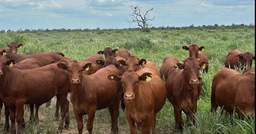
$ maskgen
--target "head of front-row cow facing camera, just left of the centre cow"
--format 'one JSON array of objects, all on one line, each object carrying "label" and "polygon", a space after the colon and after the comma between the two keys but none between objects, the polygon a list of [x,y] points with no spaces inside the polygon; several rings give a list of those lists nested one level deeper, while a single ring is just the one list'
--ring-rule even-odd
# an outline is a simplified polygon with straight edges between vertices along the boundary
[{"label": "head of front-row cow facing camera, just left of the centre cow", "polygon": [[69,65],[66,63],[58,63],[57,67],[61,70],[68,71],[70,84],[81,84],[83,80],[83,71],[89,69],[92,63],[87,63],[84,66],[78,62],[73,61]]}]

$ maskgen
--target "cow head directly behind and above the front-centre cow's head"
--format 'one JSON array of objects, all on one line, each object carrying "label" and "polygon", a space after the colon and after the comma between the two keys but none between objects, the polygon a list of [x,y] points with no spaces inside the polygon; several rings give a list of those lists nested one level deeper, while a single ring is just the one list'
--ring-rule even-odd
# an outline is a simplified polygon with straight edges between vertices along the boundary
[{"label": "cow head directly behind and above the front-centre cow's head", "polygon": [[140,65],[146,64],[146,59],[139,59],[136,56],[130,56],[129,58],[124,60],[119,60],[116,62],[117,65],[126,66],[126,69],[132,69],[134,71],[140,70]]}]

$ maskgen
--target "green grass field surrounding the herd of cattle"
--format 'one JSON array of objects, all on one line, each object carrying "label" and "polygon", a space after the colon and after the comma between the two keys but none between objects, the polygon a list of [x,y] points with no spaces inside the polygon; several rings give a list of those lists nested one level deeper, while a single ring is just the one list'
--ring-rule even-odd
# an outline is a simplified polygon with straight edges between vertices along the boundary
[{"label": "green grass field surrounding the herd of cattle", "polygon": [[[255,50],[255,29],[218,29],[217,33],[208,33],[208,29],[201,30],[157,30],[143,33],[140,31],[91,32],[91,33],[5,33],[0,34],[0,48],[7,48],[6,43],[23,43],[18,49],[19,54],[33,54],[40,52],[63,52],[72,60],[83,61],[86,57],[96,54],[105,47],[126,48],[132,55],[145,58],[156,63],[160,68],[165,57],[174,56],[181,62],[188,57],[188,51],[182,46],[192,43],[205,46],[204,53],[209,58],[209,71],[200,74],[203,78],[204,94],[197,102],[196,124],[188,127],[185,124],[184,134],[200,133],[231,133],[231,134],[254,134],[255,116],[239,120],[235,115],[232,117],[221,116],[219,112],[212,115],[210,112],[211,86],[213,76],[224,68],[224,60],[232,49],[243,52]],[[254,68],[254,60],[252,68]],[[26,129],[23,133],[52,134],[58,131],[58,122],[54,121],[56,97],[52,99],[50,108],[43,104],[39,108],[39,123],[29,124],[29,110],[25,111]],[[220,110],[220,109],[219,109]],[[4,110],[1,113],[0,123],[4,123]],[[63,133],[77,133],[75,116],[72,104],[69,103],[70,126]],[[186,117],[183,114],[183,119]],[[84,116],[84,124],[87,116]],[[120,108],[118,118],[119,133],[129,133],[125,112]],[[0,125],[0,132],[3,130]],[[108,109],[99,110],[93,124],[93,133],[111,133],[110,115]],[[174,114],[172,104],[166,100],[162,110],[157,114],[156,133],[176,133],[174,130]],[[88,133],[85,125],[83,133]],[[177,132],[179,133],[179,132]]]}]

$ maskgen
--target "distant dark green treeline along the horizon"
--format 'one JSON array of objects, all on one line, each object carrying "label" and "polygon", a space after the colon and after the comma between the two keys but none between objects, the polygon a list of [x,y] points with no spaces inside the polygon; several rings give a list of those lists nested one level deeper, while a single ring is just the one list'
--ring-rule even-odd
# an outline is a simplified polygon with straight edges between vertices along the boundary
[{"label": "distant dark green treeline along the horizon", "polygon": [[[194,26],[194,24],[192,24],[191,26],[182,26],[182,27],[175,27],[175,26],[159,26],[159,27],[147,27],[147,30],[182,30],[182,29],[220,29],[220,28],[227,28],[227,29],[238,29],[238,28],[255,28],[255,25],[253,25],[252,23],[250,25],[244,25],[244,24],[240,24],[240,25],[236,25],[236,24],[232,24],[231,26],[225,26],[225,25],[221,25],[219,26],[218,24],[214,24],[212,25],[203,25],[203,26]],[[12,33],[12,32],[18,32],[18,33],[37,33],[39,31],[41,32],[97,32],[97,31],[114,31],[114,30],[124,30],[124,31],[133,31],[133,30],[141,30],[141,28],[137,27],[137,28],[123,28],[123,29],[100,29],[99,27],[97,27],[96,29],[65,29],[65,28],[61,28],[61,29],[19,29],[17,31],[13,31],[13,30],[1,30],[0,33]]]}]

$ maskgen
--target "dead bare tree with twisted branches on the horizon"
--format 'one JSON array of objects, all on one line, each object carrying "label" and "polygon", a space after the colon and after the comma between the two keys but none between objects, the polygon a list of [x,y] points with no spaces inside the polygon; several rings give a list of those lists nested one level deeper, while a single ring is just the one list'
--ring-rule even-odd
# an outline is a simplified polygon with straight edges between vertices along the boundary
[{"label": "dead bare tree with twisted branches on the horizon", "polygon": [[150,10],[148,10],[145,14],[142,13],[142,15],[140,14],[140,8],[141,7],[138,7],[138,5],[136,5],[135,7],[134,6],[129,6],[131,7],[132,9],[132,14],[130,14],[129,16],[132,16],[132,21],[129,21],[128,19],[125,19],[127,22],[129,23],[132,23],[132,22],[137,22],[138,23],[138,26],[141,27],[141,29],[145,29],[145,26],[148,26],[148,23],[146,21],[148,20],[154,20],[155,16],[153,17],[153,19],[148,19],[149,17],[149,14],[148,12],[149,11],[152,11],[153,8],[151,8]]}]

